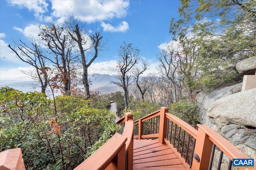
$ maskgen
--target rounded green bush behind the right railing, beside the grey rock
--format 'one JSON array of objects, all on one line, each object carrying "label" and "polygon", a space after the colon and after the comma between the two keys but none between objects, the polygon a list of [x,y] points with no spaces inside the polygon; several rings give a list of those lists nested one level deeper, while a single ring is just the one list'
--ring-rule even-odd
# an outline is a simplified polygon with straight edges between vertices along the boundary
[{"label": "rounded green bush behind the right railing, beside the grey rock", "polygon": [[176,115],[183,121],[188,122],[192,126],[195,126],[200,117],[198,114],[198,106],[192,102],[186,102],[186,100],[180,100],[174,102],[169,106],[169,112]]}]

